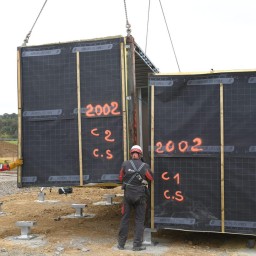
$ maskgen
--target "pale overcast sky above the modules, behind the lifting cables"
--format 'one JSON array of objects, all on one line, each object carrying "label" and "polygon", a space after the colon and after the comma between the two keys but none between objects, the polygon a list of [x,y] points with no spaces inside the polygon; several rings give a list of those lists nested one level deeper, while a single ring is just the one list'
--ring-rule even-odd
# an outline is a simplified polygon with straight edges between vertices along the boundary
[{"label": "pale overcast sky above the modules, behind the lifting cables", "polygon": [[[17,47],[45,0],[0,1],[0,114],[17,113]],[[151,0],[147,56],[176,73],[159,0]],[[256,0],[161,0],[181,72],[256,69]],[[149,0],[126,0],[132,35],[145,51]],[[126,36],[123,0],[48,0],[28,46]]]}]

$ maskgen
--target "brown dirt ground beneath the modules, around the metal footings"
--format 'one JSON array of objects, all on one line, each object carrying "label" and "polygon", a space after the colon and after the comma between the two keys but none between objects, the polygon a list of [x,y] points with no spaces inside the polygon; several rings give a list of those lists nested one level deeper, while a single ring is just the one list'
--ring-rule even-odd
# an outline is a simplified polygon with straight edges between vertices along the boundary
[{"label": "brown dirt ground beneath the modules, around the metal footings", "polygon": [[[0,155],[1,157],[1,155]],[[0,172],[0,186],[16,180],[16,172]],[[15,182],[13,183],[15,184]],[[170,255],[170,256],[249,256],[256,249],[247,248],[252,237],[241,235],[195,233],[159,230],[152,233],[152,245],[147,250],[133,252],[133,222],[131,221],[126,249],[116,248],[121,219],[120,187],[74,187],[71,194],[59,194],[59,188],[45,188],[44,201],[39,201],[40,188],[21,188],[17,193],[1,195],[0,256],[9,255]],[[115,204],[95,205],[104,194],[115,194]],[[89,218],[74,218],[72,204],[86,204],[84,213]],[[0,212],[1,212],[0,210]],[[21,230],[17,221],[36,221],[31,228],[35,238],[19,240]]]}]

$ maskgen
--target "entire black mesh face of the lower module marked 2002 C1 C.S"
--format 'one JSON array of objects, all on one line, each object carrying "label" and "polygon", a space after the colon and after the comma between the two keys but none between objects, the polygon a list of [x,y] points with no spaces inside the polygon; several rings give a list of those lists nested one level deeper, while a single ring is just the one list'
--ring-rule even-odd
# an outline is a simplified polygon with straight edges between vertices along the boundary
[{"label": "entire black mesh face of the lower module marked 2002 C1 C.S", "polygon": [[221,231],[220,84],[225,232],[255,234],[256,73],[150,76],[155,226]]}]

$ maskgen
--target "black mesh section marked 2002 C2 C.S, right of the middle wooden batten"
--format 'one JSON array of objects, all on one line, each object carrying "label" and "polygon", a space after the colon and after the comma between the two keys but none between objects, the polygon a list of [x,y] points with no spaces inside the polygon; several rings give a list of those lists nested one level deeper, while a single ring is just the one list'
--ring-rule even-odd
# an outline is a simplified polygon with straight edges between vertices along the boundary
[{"label": "black mesh section marked 2002 C2 C.S, right of the middle wooden batten", "polygon": [[88,182],[117,182],[123,161],[120,41],[102,45],[111,50],[80,53],[83,167]]}]

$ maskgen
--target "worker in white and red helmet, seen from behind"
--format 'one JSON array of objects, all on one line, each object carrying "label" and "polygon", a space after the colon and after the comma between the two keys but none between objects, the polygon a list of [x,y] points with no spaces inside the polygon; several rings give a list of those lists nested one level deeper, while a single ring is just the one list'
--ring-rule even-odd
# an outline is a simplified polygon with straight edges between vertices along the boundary
[{"label": "worker in white and red helmet, seen from behind", "polygon": [[148,197],[148,181],[153,180],[153,174],[148,164],[141,161],[142,149],[134,145],[131,150],[131,160],[122,164],[119,179],[124,189],[124,200],[122,206],[122,219],[118,233],[119,250],[124,250],[128,236],[129,219],[132,208],[135,210],[135,233],[133,240],[133,251],[145,250],[142,246],[144,222]]}]

